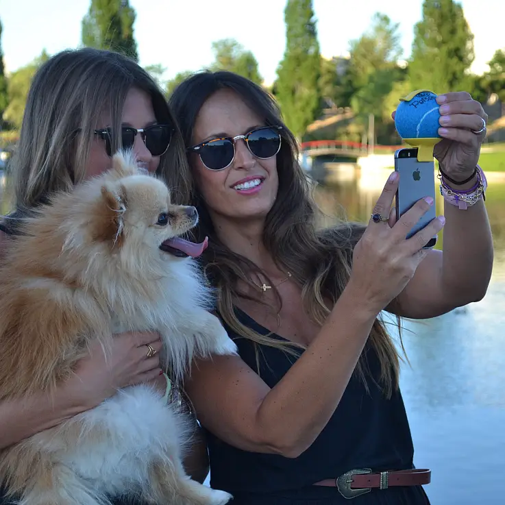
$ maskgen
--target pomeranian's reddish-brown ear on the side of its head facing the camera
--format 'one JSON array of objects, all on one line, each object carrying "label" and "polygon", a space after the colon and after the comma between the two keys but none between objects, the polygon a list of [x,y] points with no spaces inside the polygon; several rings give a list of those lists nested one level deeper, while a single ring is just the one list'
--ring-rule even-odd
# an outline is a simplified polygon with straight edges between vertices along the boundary
[{"label": "pomeranian's reddish-brown ear on the side of its head facing the camera", "polygon": [[126,189],[122,184],[106,183],[101,186],[101,201],[94,222],[94,237],[111,245],[123,242],[123,214],[126,210]]}]

